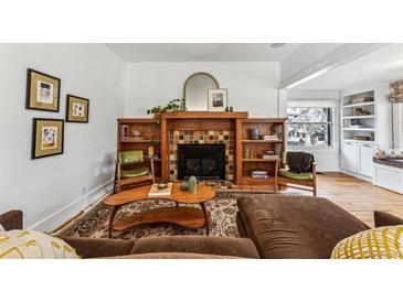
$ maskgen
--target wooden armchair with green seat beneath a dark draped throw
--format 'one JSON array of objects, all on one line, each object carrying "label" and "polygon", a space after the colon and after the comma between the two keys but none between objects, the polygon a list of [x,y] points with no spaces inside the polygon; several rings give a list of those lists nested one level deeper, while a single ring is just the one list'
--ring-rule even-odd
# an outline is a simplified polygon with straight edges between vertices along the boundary
[{"label": "wooden armchair with green seat beneath a dark draped throw", "polygon": [[312,192],[314,196],[317,195],[317,180],[316,180],[316,162],[310,163],[310,171],[307,173],[295,173],[288,170],[287,166],[287,152],[283,152],[283,168],[278,170],[277,183],[278,188],[282,186],[299,188],[304,191]]}]

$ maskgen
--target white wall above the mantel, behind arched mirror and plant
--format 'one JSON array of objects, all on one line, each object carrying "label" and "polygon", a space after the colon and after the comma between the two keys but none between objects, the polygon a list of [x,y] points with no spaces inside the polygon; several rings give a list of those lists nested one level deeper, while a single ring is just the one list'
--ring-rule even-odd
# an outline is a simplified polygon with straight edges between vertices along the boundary
[{"label": "white wall above the mantel, behind arched mirror and plant", "polygon": [[[278,63],[131,63],[126,65],[126,116],[145,117],[148,108],[183,97],[193,73],[212,74],[229,89],[230,106],[250,117],[278,116]],[[280,112],[282,116],[285,111]]]}]

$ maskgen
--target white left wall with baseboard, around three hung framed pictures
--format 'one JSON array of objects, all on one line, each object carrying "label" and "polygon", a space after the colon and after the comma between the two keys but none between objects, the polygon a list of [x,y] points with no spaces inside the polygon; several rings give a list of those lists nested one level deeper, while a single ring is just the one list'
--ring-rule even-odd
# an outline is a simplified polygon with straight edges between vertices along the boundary
[{"label": "white left wall with baseboard, around three hung framed pictures", "polygon": [[[0,44],[0,213],[52,230],[110,187],[124,63],[100,44]],[[60,112],[24,108],[28,67],[62,79]],[[64,154],[31,160],[32,118],[64,119],[66,94],[89,98],[89,123],[66,122]]]}]

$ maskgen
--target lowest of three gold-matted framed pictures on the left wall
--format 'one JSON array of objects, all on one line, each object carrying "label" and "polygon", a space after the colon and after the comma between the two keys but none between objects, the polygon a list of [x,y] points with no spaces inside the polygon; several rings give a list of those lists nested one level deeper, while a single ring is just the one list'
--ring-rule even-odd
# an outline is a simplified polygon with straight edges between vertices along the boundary
[{"label": "lowest of three gold-matted framed pictures on the left wall", "polygon": [[32,160],[63,153],[63,119],[34,118],[32,128]]}]

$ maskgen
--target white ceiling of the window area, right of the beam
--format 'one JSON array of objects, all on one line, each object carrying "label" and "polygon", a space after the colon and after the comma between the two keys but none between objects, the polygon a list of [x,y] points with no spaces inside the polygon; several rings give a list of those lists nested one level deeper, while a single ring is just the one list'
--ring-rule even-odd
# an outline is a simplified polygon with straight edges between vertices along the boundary
[{"label": "white ceiling of the window area, right of the beam", "polygon": [[344,89],[362,83],[403,78],[403,44],[389,44],[328,71],[293,89]]}]

